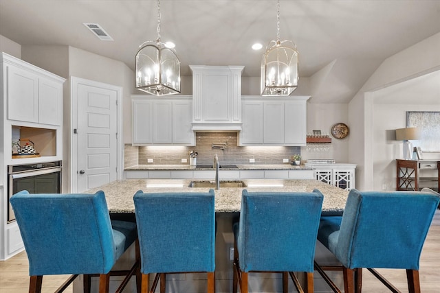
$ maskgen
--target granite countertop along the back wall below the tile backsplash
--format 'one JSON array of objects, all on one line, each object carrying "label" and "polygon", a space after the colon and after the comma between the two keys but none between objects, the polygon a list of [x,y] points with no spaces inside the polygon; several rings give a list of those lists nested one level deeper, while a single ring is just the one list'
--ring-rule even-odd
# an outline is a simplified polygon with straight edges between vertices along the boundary
[{"label": "granite countertop along the back wall below the tile backsplash", "polygon": [[[225,164],[232,165],[232,164]],[[311,170],[311,167],[305,165],[289,165],[289,164],[278,164],[278,165],[236,165],[239,170]],[[237,168],[221,168],[222,170],[236,170]],[[203,168],[191,165],[135,165],[132,167],[124,168],[124,171],[133,170],[212,170],[210,168]]]}]

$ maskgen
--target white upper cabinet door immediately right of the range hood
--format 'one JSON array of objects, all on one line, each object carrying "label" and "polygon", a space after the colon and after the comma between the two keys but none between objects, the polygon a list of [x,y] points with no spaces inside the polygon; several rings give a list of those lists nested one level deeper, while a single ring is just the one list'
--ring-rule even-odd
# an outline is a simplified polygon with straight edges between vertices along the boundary
[{"label": "white upper cabinet door immediately right of the range hood", "polygon": [[243,102],[240,145],[263,143],[263,102]]}]

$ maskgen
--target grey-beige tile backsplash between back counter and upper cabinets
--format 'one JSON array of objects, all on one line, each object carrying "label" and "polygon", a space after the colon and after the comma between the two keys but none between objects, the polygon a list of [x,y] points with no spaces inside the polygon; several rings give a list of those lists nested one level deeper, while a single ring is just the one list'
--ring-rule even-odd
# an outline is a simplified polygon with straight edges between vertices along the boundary
[{"label": "grey-beige tile backsplash between back counter and upper cabinets", "polygon": [[[223,150],[212,148],[212,144],[223,146]],[[238,146],[237,132],[197,132],[196,145],[185,146],[132,146],[126,144],[124,148],[124,167],[134,165],[189,165],[189,153],[198,152],[197,165],[210,165],[214,154],[219,156],[223,165],[245,165],[254,159],[254,164],[283,164],[283,159],[289,159],[293,154],[300,153],[300,147],[283,146]],[[153,163],[148,163],[153,159]],[[181,159],[186,159],[182,163]]]}]

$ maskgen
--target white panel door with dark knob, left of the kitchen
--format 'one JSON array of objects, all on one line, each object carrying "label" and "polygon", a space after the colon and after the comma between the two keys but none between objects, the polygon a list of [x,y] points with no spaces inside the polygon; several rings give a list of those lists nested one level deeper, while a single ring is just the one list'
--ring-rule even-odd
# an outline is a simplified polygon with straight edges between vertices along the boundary
[{"label": "white panel door with dark knob, left of the kitchen", "polygon": [[78,192],[116,180],[118,92],[78,84]]}]

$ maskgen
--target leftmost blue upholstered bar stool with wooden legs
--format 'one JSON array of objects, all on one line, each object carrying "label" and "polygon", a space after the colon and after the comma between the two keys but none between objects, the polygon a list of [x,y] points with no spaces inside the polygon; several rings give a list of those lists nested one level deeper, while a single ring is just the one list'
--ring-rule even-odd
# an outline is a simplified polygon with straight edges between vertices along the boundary
[{"label": "leftmost blue upholstered bar stool with wooden legs", "polygon": [[[137,231],[133,222],[111,222],[102,191],[96,194],[20,191],[10,202],[28,254],[29,292],[41,292],[43,275],[47,274],[72,274],[57,292],[65,290],[78,274],[85,274],[85,292],[90,292],[90,274],[99,274],[99,292],[109,291],[111,268],[137,241]],[[133,274],[140,277],[139,261],[126,272],[117,292],[122,292]]]}]

